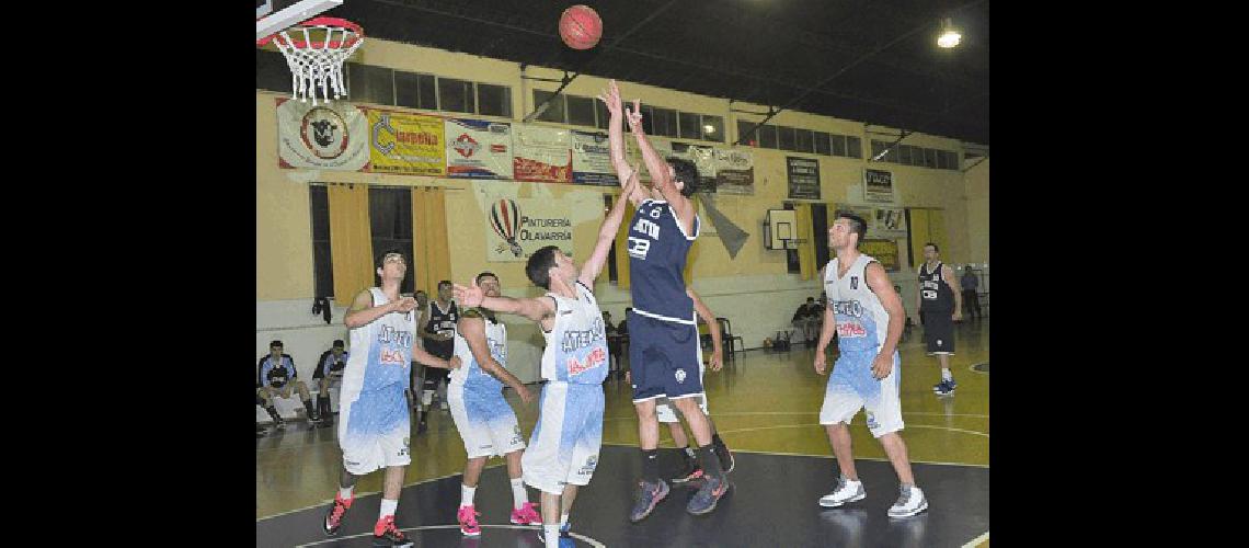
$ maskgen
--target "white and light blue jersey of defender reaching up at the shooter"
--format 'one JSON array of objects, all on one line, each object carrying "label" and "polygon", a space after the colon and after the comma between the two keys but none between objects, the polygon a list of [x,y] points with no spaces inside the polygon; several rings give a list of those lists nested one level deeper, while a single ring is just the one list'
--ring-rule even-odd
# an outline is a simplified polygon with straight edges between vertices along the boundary
[{"label": "white and light blue jersey of defender reaching up at the shooter", "polygon": [[[601,384],[607,378],[607,335],[595,293],[580,281],[577,298],[548,292],[556,302],[555,326],[542,351],[542,378],[578,384]],[[684,295],[684,290],[682,290]],[[689,297],[687,296],[688,301]]]}]

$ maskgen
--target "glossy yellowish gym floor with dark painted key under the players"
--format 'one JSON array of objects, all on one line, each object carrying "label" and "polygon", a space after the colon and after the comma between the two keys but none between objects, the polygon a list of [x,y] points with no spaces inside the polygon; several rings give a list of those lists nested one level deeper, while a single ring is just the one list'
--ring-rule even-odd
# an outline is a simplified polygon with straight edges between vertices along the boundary
[{"label": "glossy yellowish gym floor with dark painted key under the players", "polygon": [[[622,381],[605,384],[607,408],[603,451],[595,479],[582,489],[570,519],[577,546],[988,546],[989,376],[973,366],[989,361],[989,321],[957,328],[950,368],[954,396],[938,397],[934,357],[923,348],[922,327],[899,345],[902,353],[903,439],[917,483],[929,511],[888,519],[897,498],[897,477],[884,452],[868,433],[863,413],[851,434],[854,458],[868,498],[843,508],[817,504],[837,476],[837,463],[819,426],[826,376],[812,368],[813,350],[798,343],[788,352],[748,351],[708,372],[704,384],[711,417],[737,456],[729,474],[733,491],[708,517],[683,509],[692,489],[674,488],[639,524],[628,523],[633,488],[641,472],[637,418],[631,391]],[[832,360],[829,360],[832,363]],[[978,367],[988,371],[987,366]],[[533,386],[533,388],[541,388]],[[526,437],[537,419],[537,404],[525,406],[508,391]],[[326,538],[320,519],[337,488],[341,454],[335,428],[291,422],[285,432],[256,439],[256,544],[366,546],[377,517],[380,472],[360,479],[338,537]],[[673,447],[661,427],[661,448]],[[433,411],[430,429],[411,438],[412,466],[405,479],[397,521],[417,546],[541,547],[533,528],[507,522],[511,494],[506,468],[492,459],[477,491],[483,534],[465,539],[456,531],[463,443],[451,416]],[[664,474],[677,457],[663,452]],[[531,489],[531,499],[537,494]],[[493,527],[492,527],[493,526]]]}]

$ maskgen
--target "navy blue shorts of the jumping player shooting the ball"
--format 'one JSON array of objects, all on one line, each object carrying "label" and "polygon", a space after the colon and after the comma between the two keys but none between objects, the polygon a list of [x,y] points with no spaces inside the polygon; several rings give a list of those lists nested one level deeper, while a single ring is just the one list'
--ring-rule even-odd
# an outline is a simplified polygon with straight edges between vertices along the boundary
[{"label": "navy blue shorts of the jumping player shooting the ball", "polygon": [[[691,318],[692,321],[693,318]],[[698,374],[698,328],[628,313],[628,362],[633,402],[666,396],[669,399],[703,392]]]}]

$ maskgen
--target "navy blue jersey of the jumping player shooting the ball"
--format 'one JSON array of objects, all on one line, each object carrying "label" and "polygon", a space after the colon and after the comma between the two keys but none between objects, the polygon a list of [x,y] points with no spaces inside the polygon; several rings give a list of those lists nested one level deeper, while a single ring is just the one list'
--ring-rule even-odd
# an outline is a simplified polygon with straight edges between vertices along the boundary
[{"label": "navy blue jersey of the jumping player shooting the ball", "polygon": [[693,300],[686,295],[682,272],[689,247],[698,237],[686,235],[668,202],[644,200],[628,230],[628,267],[633,311],[664,321],[693,322]]}]

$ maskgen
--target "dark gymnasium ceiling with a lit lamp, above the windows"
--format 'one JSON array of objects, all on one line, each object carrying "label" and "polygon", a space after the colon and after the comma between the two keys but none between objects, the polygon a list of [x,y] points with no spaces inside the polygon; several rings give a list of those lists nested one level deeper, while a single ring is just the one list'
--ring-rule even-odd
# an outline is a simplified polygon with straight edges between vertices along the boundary
[{"label": "dark gymnasium ceiling with a lit lamp, above the windows", "polygon": [[[989,145],[988,0],[585,0],[605,27],[587,51],[560,41],[575,2],[346,0],[325,15],[385,40]],[[952,50],[936,45],[944,17],[963,34]]]}]

